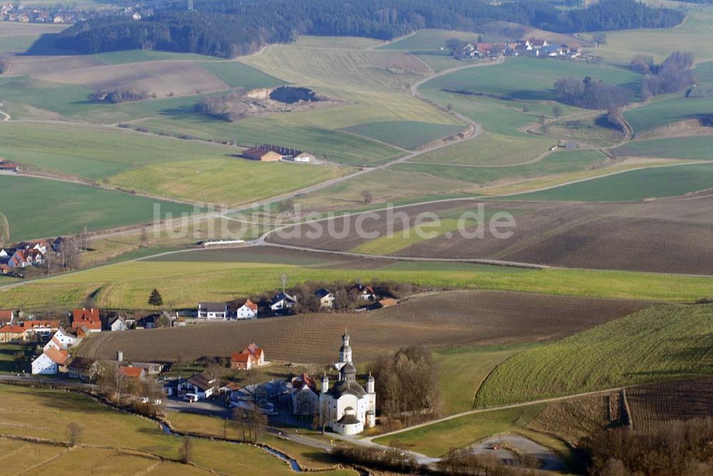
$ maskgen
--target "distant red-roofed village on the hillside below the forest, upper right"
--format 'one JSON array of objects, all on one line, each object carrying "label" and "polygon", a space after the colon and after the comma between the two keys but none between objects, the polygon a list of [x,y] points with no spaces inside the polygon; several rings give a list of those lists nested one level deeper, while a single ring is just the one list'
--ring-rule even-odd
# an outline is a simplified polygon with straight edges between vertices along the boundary
[{"label": "distant red-roofed village on the hillside below the forest, upper right", "polygon": [[535,38],[506,43],[449,42],[451,53],[456,58],[496,58],[520,56],[525,58],[570,58],[582,56],[582,46],[575,41],[555,44]]}]

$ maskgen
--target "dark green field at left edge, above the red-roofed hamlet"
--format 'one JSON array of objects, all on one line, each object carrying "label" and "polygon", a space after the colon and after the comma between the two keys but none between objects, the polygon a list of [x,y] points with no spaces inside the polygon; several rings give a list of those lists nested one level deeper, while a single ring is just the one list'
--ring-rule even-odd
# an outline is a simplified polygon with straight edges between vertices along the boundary
[{"label": "dark green field at left edge, above the red-roofed hamlet", "polygon": [[10,239],[56,237],[89,230],[151,222],[154,204],[174,216],[193,207],[30,177],[0,176],[0,205],[10,224]]}]

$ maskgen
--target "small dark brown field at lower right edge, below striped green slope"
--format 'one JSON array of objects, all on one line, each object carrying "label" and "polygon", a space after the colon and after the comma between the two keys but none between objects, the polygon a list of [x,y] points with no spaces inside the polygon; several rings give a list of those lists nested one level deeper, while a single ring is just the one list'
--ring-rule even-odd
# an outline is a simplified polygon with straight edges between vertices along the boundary
[{"label": "small dark brown field at lower right edge, below striped green slope", "polygon": [[713,413],[711,378],[627,388],[626,395],[636,431],[655,431],[670,420],[709,418]]}]

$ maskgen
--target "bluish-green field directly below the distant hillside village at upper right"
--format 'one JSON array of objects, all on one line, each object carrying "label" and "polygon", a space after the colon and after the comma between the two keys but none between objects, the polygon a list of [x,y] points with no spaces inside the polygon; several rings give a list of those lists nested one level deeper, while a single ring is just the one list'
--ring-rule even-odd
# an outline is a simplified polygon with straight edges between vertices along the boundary
[{"label": "bluish-green field directly below the distant hillside village at upper right", "polygon": [[553,100],[555,81],[569,76],[590,76],[596,81],[627,86],[636,92],[641,78],[628,68],[607,63],[585,64],[551,59],[509,58],[498,65],[463,69],[434,78],[424,87],[467,90],[515,100]]}]

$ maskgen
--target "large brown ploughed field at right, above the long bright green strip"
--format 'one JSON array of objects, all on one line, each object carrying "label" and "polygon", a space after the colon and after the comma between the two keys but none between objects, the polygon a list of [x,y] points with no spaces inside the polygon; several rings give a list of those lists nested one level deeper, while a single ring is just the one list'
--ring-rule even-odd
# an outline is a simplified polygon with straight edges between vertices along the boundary
[{"label": "large brown ploughed field at right, above the long bright green strip", "polygon": [[[438,217],[457,217],[474,211],[478,202],[456,200],[401,207],[414,217],[434,212]],[[615,269],[677,274],[713,274],[713,261],[700,259],[713,252],[713,195],[699,195],[650,202],[508,202],[485,201],[486,220],[490,212],[510,212],[515,217],[513,237],[497,239],[486,233],[483,239],[466,239],[454,233],[440,234],[405,246],[389,254],[401,257],[499,259],[510,262],[557,267]],[[372,212],[373,213],[373,212]],[[364,220],[365,232],[386,234],[386,212],[380,219]],[[358,215],[349,217],[354,229]],[[334,225],[339,231],[342,218]],[[401,222],[394,220],[398,236]],[[368,235],[367,235],[368,236]],[[353,251],[367,242],[351,234],[332,239],[281,239],[276,234],[268,242],[309,249]],[[378,252],[378,251],[377,251]]]}]

